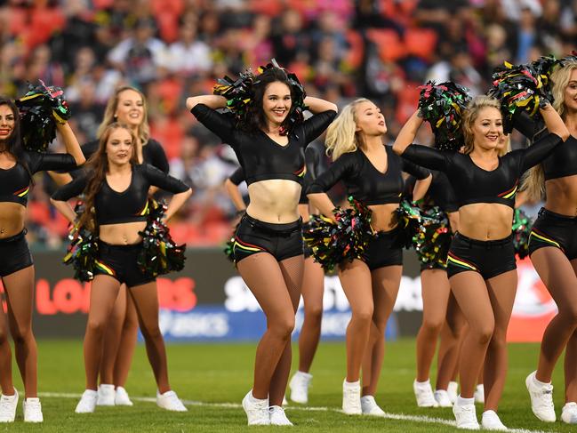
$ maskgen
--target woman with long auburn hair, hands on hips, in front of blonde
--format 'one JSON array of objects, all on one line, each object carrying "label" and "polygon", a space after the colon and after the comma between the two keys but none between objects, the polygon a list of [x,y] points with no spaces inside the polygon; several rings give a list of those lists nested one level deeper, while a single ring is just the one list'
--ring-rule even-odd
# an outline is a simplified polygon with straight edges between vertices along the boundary
[{"label": "woman with long auburn hair, hands on hips, in front of blonde", "polygon": [[148,359],[156,377],[156,404],[167,410],[186,411],[168,383],[164,341],[158,329],[156,281],[140,272],[137,259],[142,248],[139,232],[146,226],[149,188],[155,186],[174,194],[166,220],[184,204],[191,191],[152,165],[138,164],[136,140],[128,126],[110,124],[100,137],[100,148],[91,157],[88,169],[52,195],[56,208],[69,221],[75,221],[76,213],[68,199],[84,192],[87,211],[79,225],[95,230],[100,239],[84,336],[86,390],[76,405],[76,413],[94,411],[103,335],[122,284],[128,287],[139,312]]}]

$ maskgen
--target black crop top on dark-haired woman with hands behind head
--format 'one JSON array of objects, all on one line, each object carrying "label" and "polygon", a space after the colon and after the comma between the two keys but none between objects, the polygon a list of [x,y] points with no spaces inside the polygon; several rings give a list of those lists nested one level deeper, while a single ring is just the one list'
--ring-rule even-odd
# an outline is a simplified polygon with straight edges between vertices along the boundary
[{"label": "black crop top on dark-haired woman with hands behind head", "polygon": [[237,130],[232,119],[204,104],[197,104],[190,112],[235,150],[247,185],[268,179],[294,180],[302,185],[306,172],[304,148],[325,131],[337,115],[327,110],[310,117],[293,128],[288,144],[282,146],[260,130],[254,133]]}]

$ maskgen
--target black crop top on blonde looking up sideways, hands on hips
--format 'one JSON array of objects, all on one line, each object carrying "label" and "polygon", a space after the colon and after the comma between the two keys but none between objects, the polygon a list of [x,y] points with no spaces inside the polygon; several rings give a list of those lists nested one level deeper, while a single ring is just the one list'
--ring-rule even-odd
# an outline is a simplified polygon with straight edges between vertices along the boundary
[{"label": "black crop top on blonde looking up sideways, hands on hips", "polygon": [[401,172],[413,174],[420,180],[427,178],[430,172],[397,156],[390,146],[385,148],[386,172],[379,172],[365,153],[357,148],[354,152],[339,156],[326,172],[312,182],[308,194],[328,191],[342,180],[347,193],[364,204],[399,203],[405,188]]}]

